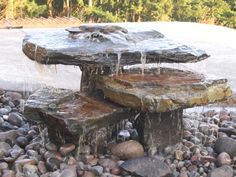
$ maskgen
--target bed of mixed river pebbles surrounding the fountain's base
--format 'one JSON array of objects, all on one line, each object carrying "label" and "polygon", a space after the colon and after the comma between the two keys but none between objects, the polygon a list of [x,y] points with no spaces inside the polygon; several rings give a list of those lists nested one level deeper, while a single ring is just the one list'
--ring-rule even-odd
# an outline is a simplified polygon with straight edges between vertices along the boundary
[{"label": "bed of mixed river pebbles surrounding the fountain's base", "polygon": [[183,141],[158,154],[126,140],[93,155],[89,146],[50,143],[46,129],[25,120],[23,102],[21,94],[0,90],[2,177],[236,176],[236,111],[185,113]]}]

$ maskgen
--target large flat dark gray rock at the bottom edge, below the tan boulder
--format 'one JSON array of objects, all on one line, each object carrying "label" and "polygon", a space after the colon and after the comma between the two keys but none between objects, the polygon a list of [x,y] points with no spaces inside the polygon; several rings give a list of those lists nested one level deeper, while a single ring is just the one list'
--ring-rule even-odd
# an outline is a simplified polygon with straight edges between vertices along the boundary
[{"label": "large flat dark gray rock at the bottom edge, below the tan boulder", "polygon": [[121,169],[142,177],[164,177],[171,174],[170,168],[159,159],[140,157],[127,160]]}]

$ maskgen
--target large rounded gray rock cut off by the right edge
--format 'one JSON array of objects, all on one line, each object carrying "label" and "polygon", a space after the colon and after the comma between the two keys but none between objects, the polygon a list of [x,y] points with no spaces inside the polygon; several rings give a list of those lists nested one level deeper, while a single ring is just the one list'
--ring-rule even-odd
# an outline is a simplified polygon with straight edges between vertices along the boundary
[{"label": "large rounded gray rock cut off by the right edge", "polygon": [[226,152],[234,157],[236,155],[236,141],[228,137],[218,138],[215,143],[215,151],[217,153]]}]

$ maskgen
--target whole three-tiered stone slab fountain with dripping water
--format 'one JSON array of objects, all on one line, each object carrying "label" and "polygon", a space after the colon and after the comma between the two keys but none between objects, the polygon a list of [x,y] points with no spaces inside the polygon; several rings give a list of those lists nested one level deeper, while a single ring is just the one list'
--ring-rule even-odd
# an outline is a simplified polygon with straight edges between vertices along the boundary
[{"label": "whole three-tiered stone slab fountain with dripping water", "polygon": [[[125,119],[133,122],[147,149],[173,145],[182,137],[183,109],[231,96],[226,79],[160,67],[198,62],[209,55],[154,30],[73,27],[26,36],[23,52],[41,64],[80,67],[80,92],[40,89],[27,100],[25,116],[46,123],[52,141],[89,142],[94,152],[104,150]],[[157,67],[147,67],[150,63]],[[134,64],[140,67],[129,67]]]}]

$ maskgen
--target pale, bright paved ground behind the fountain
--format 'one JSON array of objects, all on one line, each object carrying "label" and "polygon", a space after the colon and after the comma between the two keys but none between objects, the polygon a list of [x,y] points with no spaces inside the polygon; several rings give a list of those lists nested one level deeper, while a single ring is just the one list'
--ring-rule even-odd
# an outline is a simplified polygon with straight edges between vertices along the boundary
[{"label": "pale, bright paved ground behind the fountain", "polygon": [[[206,50],[211,57],[205,61],[180,65],[203,74],[229,79],[236,90],[236,30],[196,23],[122,24],[132,28],[156,29],[168,38]],[[21,50],[25,33],[50,29],[0,30],[0,88],[34,90],[41,85],[78,90],[81,72],[74,66],[43,66],[29,60]]]}]

